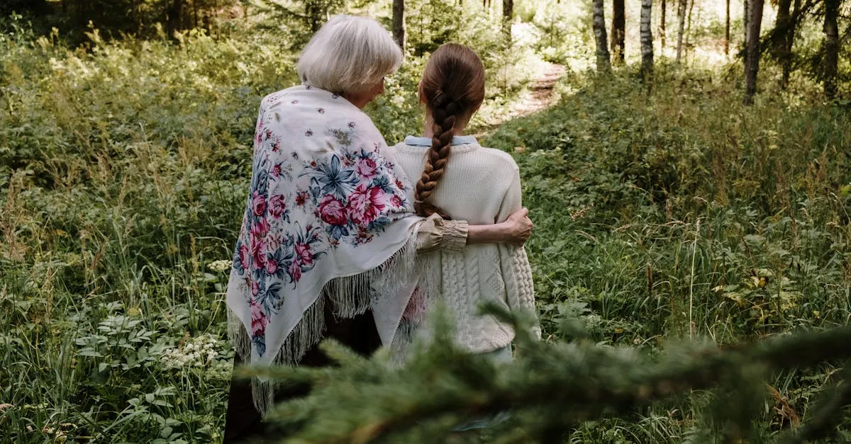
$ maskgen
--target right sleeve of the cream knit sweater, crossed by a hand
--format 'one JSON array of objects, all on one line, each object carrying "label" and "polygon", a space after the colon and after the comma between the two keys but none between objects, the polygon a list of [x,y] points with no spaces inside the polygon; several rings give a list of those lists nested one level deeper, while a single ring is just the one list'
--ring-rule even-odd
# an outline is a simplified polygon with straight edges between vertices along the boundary
[{"label": "right sleeve of the cream knit sweater, crossed by a hand", "polygon": [[[520,191],[520,170],[514,165],[511,174],[511,185],[505,191],[500,205],[496,222],[508,219],[511,213],[523,208]],[[500,269],[505,280],[507,303],[512,311],[527,311],[535,313],[534,284],[532,282],[532,265],[529,264],[526,248],[500,244]],[[537,323],[531,332],[540,339],[540,327]]]}]

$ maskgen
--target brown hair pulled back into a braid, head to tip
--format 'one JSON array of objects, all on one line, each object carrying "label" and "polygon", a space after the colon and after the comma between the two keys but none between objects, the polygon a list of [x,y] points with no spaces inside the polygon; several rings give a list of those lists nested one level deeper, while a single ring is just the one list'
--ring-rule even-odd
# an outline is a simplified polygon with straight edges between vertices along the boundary
[{"label": "brown hair pulled back into a braid, head to tip", "polygon": [[414,210],[420,216],[438,213],[449,219],[448,214],[431,202],[431,192],[443,177],[455,131],[466,126],[484,100],[482,60],[463,45],[447,43],[437,48],[423,72],[420,94],[431,113],[434,134],[426,166],[416,185]]}]

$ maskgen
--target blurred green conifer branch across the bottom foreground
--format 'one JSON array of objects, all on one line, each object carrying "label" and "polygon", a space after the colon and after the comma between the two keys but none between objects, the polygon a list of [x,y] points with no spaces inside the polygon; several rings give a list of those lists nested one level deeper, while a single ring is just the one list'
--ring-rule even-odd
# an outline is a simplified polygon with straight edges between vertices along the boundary
[{"label": "blurred green conifer branch across the bottom foreground", "polygon": [[[525,331],[521,325],[516,328]],[[588,341],[544,344],[521,335],[517,340],[523,353],[505,367],[465,354],[454,348],[448,335],[441,336],[404,367],[392,367],[387,353],[381,352],[370,360],[346,359],[342,367],[318,370],[311,396],[284,403],[273,418],[294,430],[291,442],[434,442],[464,418],[510,409],[512,423],[520,424],[528,436],[547,441],[581,421],[630,415],[689,390],[722,385],[732,387],[725,392],[725,405],[744,399],[737,396],[758,400],[765,391],[752,381],[768,371],[851,358],[851,327],[725,350],[690,345],[658,361],[647,361],[635,350],[607,349]],[[731,381],[759,390],[738,390]],[[753,402],[746,405],[752,407]],[[833,418],[835,402],[826,405],[825,418]],[[732,427],[726,432],[731,439],[746,433],[746,408],[742,414],[745,418],[733,415],[726,421]],[[823,423],[814,422],[813,427],[820,430]]]}]

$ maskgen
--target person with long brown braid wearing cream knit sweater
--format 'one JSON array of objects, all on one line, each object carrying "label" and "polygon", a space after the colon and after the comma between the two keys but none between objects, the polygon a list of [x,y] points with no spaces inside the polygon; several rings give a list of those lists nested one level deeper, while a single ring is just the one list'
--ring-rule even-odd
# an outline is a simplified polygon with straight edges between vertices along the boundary
[{"label": "person with long brown braid wearing cream knit sweater", "polygon": [[[423,136],[408,136],[394,147],[405,174],[419,178],[415,212],[481,225],[508,219],[521,208],[517,164],[505,152],[462,135],[484,100],[482,60],[470,48],[443,45],[426,64],[418,94],[426,105]],[[523,247],[482,244],[463,251],[441,250],[420,254],[418,267],[431,267],[433,272],[420,278],[400,333],[412,318],[422,315],[431,299],[439,299],[457,316],[460,347],[510,361],[513,329],[494,316],[479,315],[478,308],[491,302],[508,310],[534,311],[532,270]],[[540,338],[539,328],[534,333]]]}]

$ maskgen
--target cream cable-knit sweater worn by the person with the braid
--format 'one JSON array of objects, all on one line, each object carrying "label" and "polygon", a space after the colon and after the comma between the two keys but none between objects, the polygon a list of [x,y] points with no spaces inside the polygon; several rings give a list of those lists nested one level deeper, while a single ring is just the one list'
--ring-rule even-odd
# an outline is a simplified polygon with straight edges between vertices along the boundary
[{"label": "cream cable-knit sweater worn by the person with the braid", "polygon": [[[430,146],[431,139],[408,136],[391,148],[414,183]],[[470,225],[499,223],[522,208],[520,172],[507,153],[484,148],[471,136],[456,136],[432,198],[453,219],[465,219]],[[457,344],[471,352],[497,350],[514,339],[510,325],[479,314],[482,302],[534,311],[532,269],[523,247],[467,245],[463,251],[421,253],[417,260],[420,267],[439,270],[437,291],[457,316]],[[540,338],[540,328],[535,327],[534,333]]]}]

